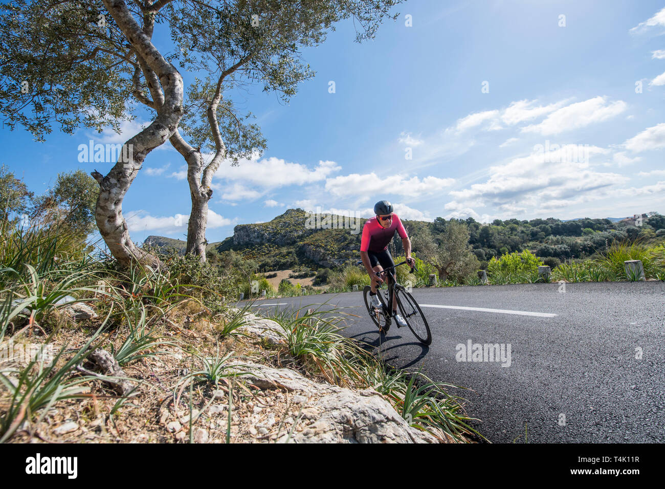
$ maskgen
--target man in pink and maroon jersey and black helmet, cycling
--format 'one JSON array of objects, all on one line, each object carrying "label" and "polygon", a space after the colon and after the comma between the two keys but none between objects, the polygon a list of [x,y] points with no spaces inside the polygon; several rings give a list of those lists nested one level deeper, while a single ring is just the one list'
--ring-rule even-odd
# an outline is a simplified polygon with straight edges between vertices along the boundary
[{"label": "man in pink and maroon jersey and black helmet, cycling", "polygon": [[[376,295],[376,287],[384,282],[381,278],[381,272],[384,267],[387,268],[395,265],[390,256],[390,251],[388,251],[388,243],[392,241],[395,231],[402,238],[406,261],[409,266],[413,267],[416,260],[411,257],[411,241],[406,234],[406,230],[404,230],[404,226],[402,226],[402,221],[393,212],[392,204],[387,200],[376,202],[374,205],[374,214],[376,216],[367,220],[362,228],[360,259],[362,259],[362,264],[365,265],[365,269],[369,273],[370,279],[372,279],[372,291],[370,291],[372,307],[380,309],[381,303]],[[400,327],[406,326],[404,318],[397,313],[397,301],[393,301],[392,303],[392,316]]]}]

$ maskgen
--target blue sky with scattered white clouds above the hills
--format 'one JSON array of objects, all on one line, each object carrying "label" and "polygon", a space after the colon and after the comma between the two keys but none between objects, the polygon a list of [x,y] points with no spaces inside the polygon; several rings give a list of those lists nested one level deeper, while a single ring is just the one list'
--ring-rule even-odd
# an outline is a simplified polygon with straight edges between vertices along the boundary
[{"label": "blue sky with scattered white clouds above the hills", "polygon": [[[317,76],[289,104],[261,86],[234,92],[268,148],[217,172],[210,242],[287,208],[369,217],[382,199],[422,220],[665,213],[663,0],[410,0],[396,11],[372,41],[354,43],[349,21],[303,51]],[[164,33],[156,42],[169,48]],[[78,145],[124,142],[149,120],[137,112],[120,136],[54,131],[45,143],[3,129],[0,162],[42,192],[58,172],[108,172],[78,162]],[[137,242],[185,239],[184,168],[168,143],[146,158],[123,203]]]}]

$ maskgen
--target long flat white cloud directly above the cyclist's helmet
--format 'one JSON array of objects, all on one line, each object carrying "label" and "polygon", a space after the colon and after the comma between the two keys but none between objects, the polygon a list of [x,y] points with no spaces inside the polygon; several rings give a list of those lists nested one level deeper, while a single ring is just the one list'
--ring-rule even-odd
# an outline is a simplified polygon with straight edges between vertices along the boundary
[{"label": "long flat white cloud directly above the cyclist's helmet", "polygon": [[363,175],[353,173],[329,178],[326,181],[325,189],[336,197],[357,194],[396,194],[419,197],[440,192],[443,188],[450,187],[454,182],[454,178],[437,178],[435,176],[426,176],[420,180],[417,176],[408,178],[403,175],[390,175],[379,178],[374,172]]}]

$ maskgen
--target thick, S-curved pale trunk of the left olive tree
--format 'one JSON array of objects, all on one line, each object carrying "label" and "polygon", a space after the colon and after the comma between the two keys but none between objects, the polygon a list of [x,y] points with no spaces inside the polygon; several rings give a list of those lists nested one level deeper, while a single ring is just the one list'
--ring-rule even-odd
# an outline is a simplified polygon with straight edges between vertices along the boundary
[{"label": "thick, S-curved pale trunk of the left olive tree", "polygon": [[[148,77],[146,74],[146,79],[152,92],[157,117],[148,127],[125,143],[126,147],[130,148],[128,151],[130,158],[124,160],[123,154],[126,153],[122,151],[118,162],[106,176],[97,171],[91,173],[100,186],[95,220],[108,249],[121,265],[127,266],[134,259],[150,265],[159,265],[157,257],[139,249],[132,242],[127,223],[122,216],[122,200],[148,153],[164,144],[178,128],[178,122],[183,115],[182,76],[150,41],[152,25],[150,31],[146,33],[136,23],[124,1],[102,1],[132,45],[142,67],[148,67],[154,75]],[[160,7],[164,5],[164,2],[159,3]],[[146,17],[150,15],[146,11]]]}]

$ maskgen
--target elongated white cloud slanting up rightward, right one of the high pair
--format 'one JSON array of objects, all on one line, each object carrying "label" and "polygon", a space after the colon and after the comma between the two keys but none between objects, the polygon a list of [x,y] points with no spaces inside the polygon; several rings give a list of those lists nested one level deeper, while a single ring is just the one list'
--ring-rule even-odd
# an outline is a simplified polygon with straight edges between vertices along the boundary
[{"label": "elongated white cloud slanting up rightward, right one of the high pair", "polygon": [[559,134],[608,120],[626,110],[627,107],[626,102],[622,100],[607,103],[605,97],[597,96],[584,102],[559,108],[549,114],[540,124],[522,128],[522,132],[537,132],[543,136]]}]

